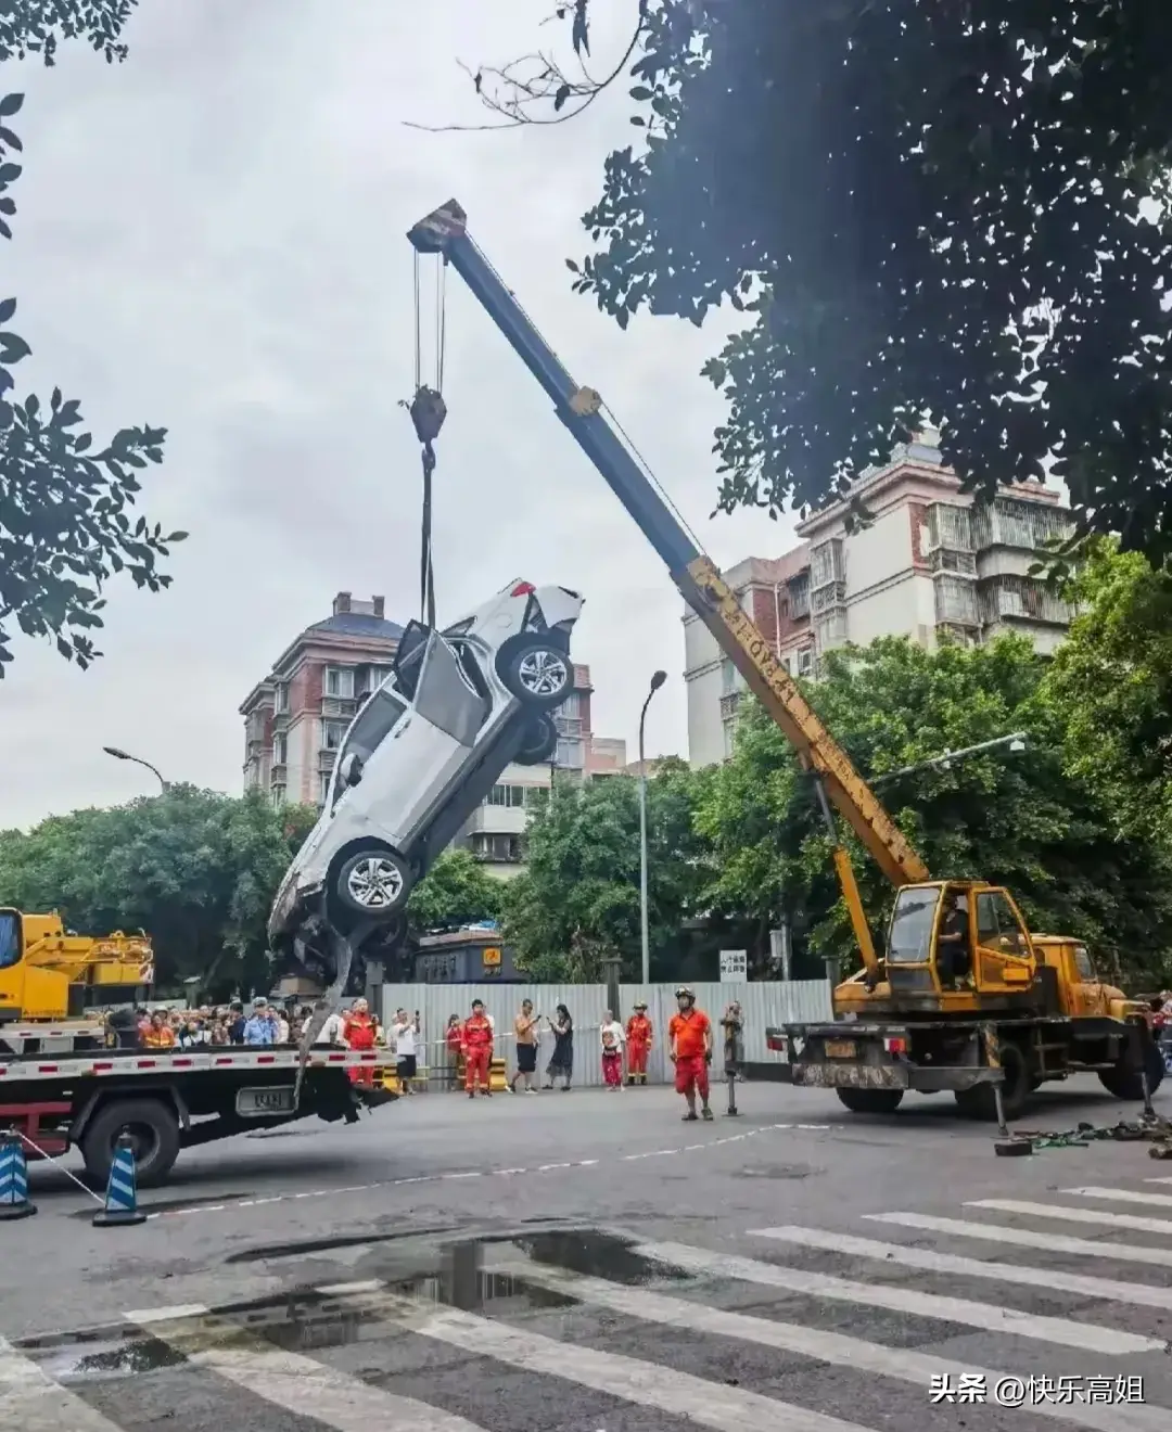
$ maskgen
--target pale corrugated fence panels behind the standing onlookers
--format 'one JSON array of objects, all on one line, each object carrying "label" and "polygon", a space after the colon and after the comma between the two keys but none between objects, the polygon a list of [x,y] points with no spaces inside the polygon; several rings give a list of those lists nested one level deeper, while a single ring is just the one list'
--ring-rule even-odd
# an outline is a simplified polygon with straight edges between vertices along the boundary
[{"label": "pale corrugated fence panels behind the standing onlookers", "polygon": [[[648,1060],[648,1083],[668,1083],[671,1061],[666,1040],[668,1021],[676,1011],[675,985],[625,984],[619,987],[619,1020],[626,1024],[636,1000],[646,1001],[648,1015],[653,1027],[653,1042]],[[739,1000],[745,1020],[745,1058],[775,1058],[765,1047],[765,1030],[771,1025],[792,1024],[802,1020],[818,1021],[831,1018],[830,985],[824,979],[751,981],[746,984],[722,984],[709,981],[693,985],[696,1004],[708,1012],[714,1024],[725,1012],[725,1007]],[[602,1058],[599,1054],[597,1030],[606,1011],[605,985],[550,985],[550,984],[388,984],[383,987],[383,1022],[388,1025],[400,1007],[414,1014],[418,1010],[421,1045],[420,1073],[424,1068],[446,1067],[444,1032],[447,1021],[454,1014],[466,1020],[471,1012],[473,1000],[483,1000],[484,1008],[496,1024],[496,1054],[509,1063],[510,1073],[516,1068],[513,1053],[513,1018],[522,1007],[522,1000],[532,1000],[533,1008],[543,1015],[553,1015],[559,1004],[570,1011],[575,1024],[573,1083],[586,1088],[602,1085]],[[544,1077],[546,1061],[553,1053],[553,1034],[542,1024],[537,1051],[537,1070]],[[712,1061],[714,1077],[722,1077],[721,1034],[716,1030],[716,1057]]]}]

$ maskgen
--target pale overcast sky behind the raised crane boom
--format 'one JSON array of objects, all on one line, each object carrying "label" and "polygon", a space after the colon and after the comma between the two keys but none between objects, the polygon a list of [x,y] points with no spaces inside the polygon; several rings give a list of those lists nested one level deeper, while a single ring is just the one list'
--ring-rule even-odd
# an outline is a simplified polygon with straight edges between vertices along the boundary
[{"label": "pale overcast sky behind the raised crane boom", "polygon": [[[420,457],[413,251],[404,233],[456,196],[469,229],[580,384],[597,388],[719,564],[791,544],[762,513],[709,520],[722,401],[699,377],[722,345],[640,315],[626,332],[570,292],[582,213],[630,142],[625,86],[566,125],[481,125],[458,62],[536,43],[567,53],[550,0],[142,0],[109,66],[85,44],[54,69],[9,62],[24,173],[3,249],[13,326],[33,347],[17,394],[79,398],[100,441],[169,430],[140,511],[188,541],[173,586],[109,589],[89,672],[17,636],[0,683],[0,828],[153,789],[239,790],[238,706],[337,591],[418,616]],[[629,6],[633,11],[633,0]],[[623,6],[599,11],[599,64]],[[424,381],[433,279],[424,272]],[[595,732],[635,756],[656,667],[669,682],[648,750],[686,755],[682,601],[520,359],[448,274],[434,563],[441,620],[514,577],[582,591],[575,657]]]}]

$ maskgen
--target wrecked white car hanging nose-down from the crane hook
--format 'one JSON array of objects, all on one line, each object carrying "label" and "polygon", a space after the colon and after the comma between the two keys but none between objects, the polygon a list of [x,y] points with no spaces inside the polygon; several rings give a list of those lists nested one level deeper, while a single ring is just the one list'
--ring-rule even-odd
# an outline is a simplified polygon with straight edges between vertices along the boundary
[{"label": "wrecked white car hanging nose-down from the crane hook", "polygon": [[582,597],[510,583],[443,632],[413,621],[387,680],[342,739],[321,818],[272,906],[274,948],[309,925],[365,939],[401,918],[413,886],[510,762],[550,760],[550,713],[573,689]]}]

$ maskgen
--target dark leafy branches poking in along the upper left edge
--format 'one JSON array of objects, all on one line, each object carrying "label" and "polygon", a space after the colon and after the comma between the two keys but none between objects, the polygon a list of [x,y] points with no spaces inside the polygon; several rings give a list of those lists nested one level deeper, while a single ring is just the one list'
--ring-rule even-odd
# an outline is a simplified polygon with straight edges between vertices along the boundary
[{"label": "dark leafy branches poking in along the upper left edge", "polygon": [[[39,54],[53,64],[62,39],[83,37],[109,62],[122,60],[122,26],[136,0],[21,0],[0,16],[0,60]],[[0,235],[16,212],[9,196],[21,166],[13,162],[20,137],[9,127],[23,95],[0,97]],[[66,660],[86,667],[102,653],[93,632],[102,627],[105,584],[128,573],[139,587],[159,591],[170,577],[158,558],[186,533],[163,536],[145,517],[133,520],[140,484],[136,471],[160,463],[165,428],[122,428],[93,450],[80,430],[77,400],[53,390],[47,404],[36,394],[11,397],[13,364],[29,344],[7,328],[16,299],[0,302],[0,677],[13,660],[11,623],[27,636],[56,640]]]}]

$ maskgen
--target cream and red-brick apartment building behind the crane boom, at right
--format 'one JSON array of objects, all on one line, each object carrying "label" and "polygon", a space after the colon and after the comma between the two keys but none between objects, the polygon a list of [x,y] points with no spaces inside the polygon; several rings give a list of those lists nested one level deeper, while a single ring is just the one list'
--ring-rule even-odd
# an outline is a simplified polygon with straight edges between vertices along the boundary
[{"label": "cream and red-brick apartment building behind the crane boom, at right", "polygon": [[[851,498],[871,521],[848,531]],[[933,435],[921,434],[863,474],[850,498],[799,523],[799,546],[781,557],[746,557],[725,580],[794,676],[812,676],[821,653],[835,646],[878,636],[933,649],[1022,632],[1050,653],[1072,613],[1029,569],[1047,541],[1070,530],[1059,494],[1039,483],[974,503]],[[744,682],[691,610],[683,642],[688,755],[693,766],[712,765],[731,753]]]}]

